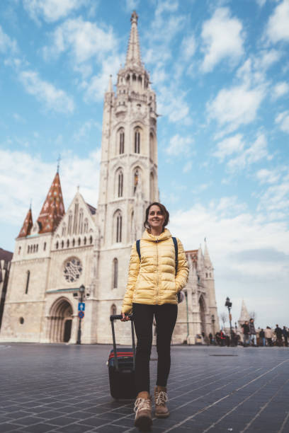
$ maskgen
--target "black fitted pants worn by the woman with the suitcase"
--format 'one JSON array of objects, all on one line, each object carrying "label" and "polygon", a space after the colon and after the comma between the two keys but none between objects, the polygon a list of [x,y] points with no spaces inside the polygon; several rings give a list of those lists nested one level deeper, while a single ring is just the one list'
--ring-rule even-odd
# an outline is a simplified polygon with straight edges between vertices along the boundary
[{"label": "black fitted pants worn by the woman with the suitcase", "polygon": [[149,359],[152,351],[152,322],[157,323],[157,385],[166,386],[171,368],[171,335],[176,325],[178,306],[174,304],[132,304],[137,334],[135,384],[137,393],[149,392]]}]

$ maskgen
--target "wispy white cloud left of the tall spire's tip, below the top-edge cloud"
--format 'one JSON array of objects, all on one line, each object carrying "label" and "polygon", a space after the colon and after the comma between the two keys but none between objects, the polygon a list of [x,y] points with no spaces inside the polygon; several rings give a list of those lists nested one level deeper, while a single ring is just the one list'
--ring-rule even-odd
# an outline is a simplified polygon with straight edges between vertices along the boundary
[{"label": "wispy white cloud left of the tall spire's tip, below the top-edge cloud", "polygon": [[69,51],[73,62],[81,64],[92,57],[103,59],[103,55],[115,50],[117,45],[111,28],[103,30],[96,23],[76,18],[57,27],[52,34],[52,45],[45,47],[44,54],[49,58]]}]

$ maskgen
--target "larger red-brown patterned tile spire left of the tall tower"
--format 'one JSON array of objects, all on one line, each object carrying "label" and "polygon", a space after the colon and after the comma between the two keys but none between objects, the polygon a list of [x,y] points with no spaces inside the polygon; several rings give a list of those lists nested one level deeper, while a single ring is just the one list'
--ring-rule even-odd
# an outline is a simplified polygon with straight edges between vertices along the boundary
[{"label": "larger red-brown patterned tile spire left of the tall tower", "polygon": [[39,233],[50,233],[55,231],[63,215],[64,204],[60,185],[60,175],[57,171],[37,220]]}]

